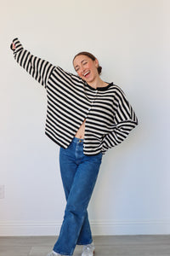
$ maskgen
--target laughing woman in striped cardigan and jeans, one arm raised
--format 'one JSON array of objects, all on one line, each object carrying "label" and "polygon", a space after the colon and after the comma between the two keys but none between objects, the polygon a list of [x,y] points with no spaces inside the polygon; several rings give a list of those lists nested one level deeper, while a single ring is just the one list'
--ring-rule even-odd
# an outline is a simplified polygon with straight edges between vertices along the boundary
[{"label": "laughing woman in striped cardigan and jeans, one arm raised", "polygon": [[67,204],[58,241],[48,256],[72,255],[77,244],[83,245],[82,256],[92,256],[94,243],[87,208],[102,156],[122,143],[138,125],[137,117],[122,90],[100,79],[101,67],[94,55],[77,54],[74,75],[31,55],[18,38],[11,49],[20,66],[47,90],[45,133],[60,146]]}]

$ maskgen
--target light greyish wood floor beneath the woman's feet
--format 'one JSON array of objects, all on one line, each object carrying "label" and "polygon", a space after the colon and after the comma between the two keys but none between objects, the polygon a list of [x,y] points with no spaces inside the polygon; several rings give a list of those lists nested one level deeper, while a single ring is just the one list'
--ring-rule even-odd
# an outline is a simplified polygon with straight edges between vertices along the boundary
[{"label": "light greyish wood floor beneath the woman's feet", "polygon": [[[0,237],[0,256],[46,256],[54,236]],[[167,256],[170,236],[94,236],[95,256]],[[74,256],[81,256],[77,246]]]}]

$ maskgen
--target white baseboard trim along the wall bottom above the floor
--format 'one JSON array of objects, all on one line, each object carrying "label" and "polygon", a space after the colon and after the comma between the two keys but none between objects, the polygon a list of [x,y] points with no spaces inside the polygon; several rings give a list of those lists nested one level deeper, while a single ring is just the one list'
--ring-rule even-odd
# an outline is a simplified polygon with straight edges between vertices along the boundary
[{"label": "white baseboard trim along the wall bottom above the floor", "polygon": [[[170,219],[91,220],[94,236],[169,235]],[[0,236],[58,236],[61,222],[1,221]]]}]

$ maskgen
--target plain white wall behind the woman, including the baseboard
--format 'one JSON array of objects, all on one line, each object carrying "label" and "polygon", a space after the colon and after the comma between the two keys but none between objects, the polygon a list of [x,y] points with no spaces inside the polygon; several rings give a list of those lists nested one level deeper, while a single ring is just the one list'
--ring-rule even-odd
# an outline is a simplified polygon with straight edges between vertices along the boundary
[{"label": "plain white wall behind the woman, including the baseboard", "polygon": [[139,117],[103,159],[88,207],[94,234],[170,234],[170,2],[7,0],[0,9],[0,236],[58,234],[65,209],[45,90],[15,63],[15,37],[71,72],[73,56],[91,51]]}]

